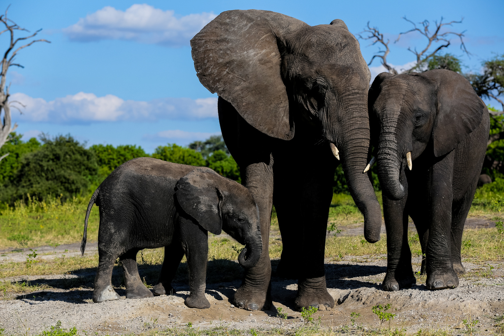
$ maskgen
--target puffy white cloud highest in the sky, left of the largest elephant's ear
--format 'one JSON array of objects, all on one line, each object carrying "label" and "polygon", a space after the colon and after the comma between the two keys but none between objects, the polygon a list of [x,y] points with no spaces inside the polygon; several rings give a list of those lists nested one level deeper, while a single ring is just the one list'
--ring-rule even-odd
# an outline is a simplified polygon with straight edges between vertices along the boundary
[{"label": "puffy white cloud highest in the sky, left of the largest elephant's ear", "polygon": [[207,23],[213,13],[190,14],[183,17],[174,11],[163,11],[147,4],[135,4],[126,11],[107,6],[65,29],[71,40],[130,40],[167,46],[188,45]]}]

